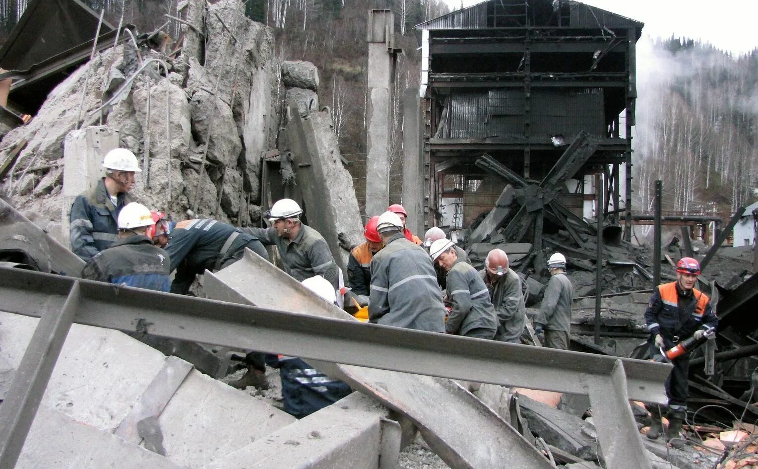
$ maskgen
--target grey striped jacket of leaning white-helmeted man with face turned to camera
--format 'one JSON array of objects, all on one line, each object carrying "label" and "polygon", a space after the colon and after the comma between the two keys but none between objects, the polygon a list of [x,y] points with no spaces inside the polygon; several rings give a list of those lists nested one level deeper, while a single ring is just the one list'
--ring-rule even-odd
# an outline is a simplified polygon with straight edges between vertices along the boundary
[{"label": "grey striped jacket of leaning white-helmeted man with face turned to camera", "polygon": [[476,269],[459,259],[450,267],[445,279],[447,297],[453,304],[445,332],[466,335],[474,329],[492,329],[491,338],[494,338],[497,331],[495,309],[487,285]]}]

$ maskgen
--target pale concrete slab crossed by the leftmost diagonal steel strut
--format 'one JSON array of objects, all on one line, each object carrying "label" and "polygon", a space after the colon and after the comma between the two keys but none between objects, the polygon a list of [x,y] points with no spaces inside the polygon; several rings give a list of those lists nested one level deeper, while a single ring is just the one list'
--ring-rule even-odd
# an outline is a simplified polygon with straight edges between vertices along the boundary
[{"label": "pale concrete slab crossed by the leftmost diagonal steel strut", "polygon": [[[13,367],[20,364],[38,322],[36,318],[0,313],[0,354]],[[165,358],[116,330],[74,324],[42,404],[110,432],[124,420]]]}]

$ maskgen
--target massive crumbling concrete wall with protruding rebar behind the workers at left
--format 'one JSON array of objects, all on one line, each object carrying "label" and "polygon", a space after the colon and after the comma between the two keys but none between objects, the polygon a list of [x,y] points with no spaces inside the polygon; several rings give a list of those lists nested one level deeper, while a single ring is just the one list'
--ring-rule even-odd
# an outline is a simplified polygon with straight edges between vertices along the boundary
[{"label": "massive crumbling concrete wall with protruding rebar behind the workers at left", "polygon": [[[119,131],[121,145],[143,164],[133,195],[152,208],[168,210],[174,219],[257,222],[261,157],[274,148],[278,124],[273,33],[246,18],[240,0],[216,5],[190,0],[183,15],[202,30],[204,46],[187,42],[180,59],[146,50],[136,58],[131,42],[126,56],[124,46],[96,55],[53,90],[29,124],[0,142],[5,149],[0,161],[21,138],[30,142],[0,191],[23,209],[60,220],[62,143],[77,127],[87,75],[83,127],[100,123],[100,114],[89,112],[102,104],[103,96],[112,96],[139,63],[161,58],[172,70],[168,79],[154,71],[140,74],[103,116],[102,124]],[[117,75],[120,80],[111,83]]]}]

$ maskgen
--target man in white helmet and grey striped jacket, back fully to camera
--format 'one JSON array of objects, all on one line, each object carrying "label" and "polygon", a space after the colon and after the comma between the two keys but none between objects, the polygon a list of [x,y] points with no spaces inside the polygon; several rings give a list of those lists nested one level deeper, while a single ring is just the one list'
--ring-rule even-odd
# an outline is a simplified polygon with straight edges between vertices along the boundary
[{"label": "man in white helmet and grey striped jacket, back fully to camera", "polygon": [[382,213],[377,231],[384,248],[371,260],[369,322],[445,332],[445,305],[426,250],[402,234],[396,213]]}]

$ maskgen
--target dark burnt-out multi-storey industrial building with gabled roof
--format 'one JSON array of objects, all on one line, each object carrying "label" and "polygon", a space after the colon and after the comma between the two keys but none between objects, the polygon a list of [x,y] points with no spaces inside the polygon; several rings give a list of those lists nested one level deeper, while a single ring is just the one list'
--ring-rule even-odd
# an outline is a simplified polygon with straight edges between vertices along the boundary
[{"label": "dark burnt-out multi-storey industrial building with gabled roof", "polygon": [[[416,26],[427,222],[465,228],[492,208],[507,178],[478,164],[482,156],[537,184],[584,131],[597,146],[556,184],[556,200],[581,218],[597,212],[595,190],[603,187],[603,213],[618,223],[631,209],[642,27],[571,0],[488,0]],[[629,239],[631,225],[625,228]]]}]

